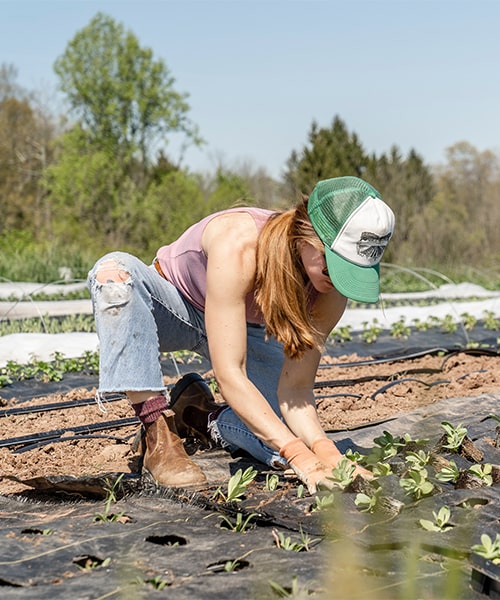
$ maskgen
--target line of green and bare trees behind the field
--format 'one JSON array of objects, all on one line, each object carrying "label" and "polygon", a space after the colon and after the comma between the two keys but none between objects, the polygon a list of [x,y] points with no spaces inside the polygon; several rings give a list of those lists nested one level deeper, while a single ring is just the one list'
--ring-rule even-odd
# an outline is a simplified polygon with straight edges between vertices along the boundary
[{"label": "line of green and bare trees behind the field", "polygon": [[111,17],[98,13],[68,43],[54,70],[67,100],[63,115],[17,85],[0,67],[0,275],[3,261],[60,256],[87,268],[112,249],[151,260],[199,218],[239,204],[284,208],[319,179],[355,175],[376,187],[397,225],[384,260],[445,271],[469,266],[498,274],[500,157],[467,142],[446,163],[367,153],[339,115],[313,122],[291,151],[283,178],[264,167],[219,165],[193,173],[168,156],[204,140],[166,63]]}]

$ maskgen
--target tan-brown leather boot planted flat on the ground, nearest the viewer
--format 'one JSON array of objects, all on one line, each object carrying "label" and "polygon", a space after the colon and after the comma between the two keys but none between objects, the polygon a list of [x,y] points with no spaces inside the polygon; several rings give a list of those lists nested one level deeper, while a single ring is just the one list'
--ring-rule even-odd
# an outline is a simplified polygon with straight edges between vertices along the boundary
[{"label": "tan-brown leather boot planted flat on the ground, nearest the viewer", "polygon": [[189,458],[177,434],[173,411],[163,411],[145,430],[143,467],[158,484],[186,487],[206,483],[203,471]]}]

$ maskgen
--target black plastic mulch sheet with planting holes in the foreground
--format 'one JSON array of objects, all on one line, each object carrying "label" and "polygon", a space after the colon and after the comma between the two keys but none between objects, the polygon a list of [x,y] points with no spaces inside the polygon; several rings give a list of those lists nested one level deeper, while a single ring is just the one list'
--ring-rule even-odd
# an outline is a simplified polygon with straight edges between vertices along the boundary
[{"label": "black plastic mulch sheet with planting holes in the foreground", "polygon": [[[442,347],[443,338],[429,341],[426,333],[425,341],[427,348],[434,341]],[[415,338],[404,348],[387,339],[383,353],[411,354],[420,348]],[[359,348],[347,351],[361,354]],[[500,392],[446,399],[329,435],[343,451],[368,453],[386,431],[409,434],[412,440],[429,440],[431,453],[467,469],[470,457],[439,446],[442,421],[460,422],[481,454],[479,462],[493,465],[498,477],[498,421],[492,415],[498,415],[499,406]],[[281,477],[276,490],[265,490],[270,472],[247,456],[221,450],[195,456],[209,475],[208,489],[167,489],[139,476],[123,477],[107,514],[116,520],[98,515],[105,513],[107,490],[117,473],[33,479],[25,482],[32,494],[0,497],[3,598],[262,599],[287,593],[341,600],[500,598],[500,567],[471,552],[482,534],[494,539],[500,533],[498,479],[491,486],[440,483],[417,500],[400,485],[403,459],[398,457],[392,460],[393,473],[377,480],[384,501],[371,513],[362,512],[355,500],[358,493],[373,491],[372,484],[356,480],[333,494],[333,507],[313,510],[314,497],[299,497],[296,481]],[[244,499],[218,500],[217,488],[225,489],[228,474],[248,466],[259,474]],[[420,519],[432,520],[433,511],[445,505],[451,510],[450,529],[419,526]],[[229,524],[247,518],[245,532],[231,530]],[[306,547],[286,550],[287,538],[289,546]]]}]

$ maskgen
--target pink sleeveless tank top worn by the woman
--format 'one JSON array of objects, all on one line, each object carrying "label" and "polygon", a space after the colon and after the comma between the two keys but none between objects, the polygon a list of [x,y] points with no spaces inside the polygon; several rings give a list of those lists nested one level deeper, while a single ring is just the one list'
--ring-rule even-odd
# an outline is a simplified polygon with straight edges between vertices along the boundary
[{"label": "pink sleeveless tank top worn by the woman", "polygon": [[[207,224],[218,215],[246,212],[255,220],[260,233],[274,211],[264,208],[230,208],[205,217],[187,229],[175,242],[162,246],[157,252],[160,267],[170,283],[196,308],[205,311],[207,291],[207,257],[201,247],[201,237]],[[246,319],[249,323],[263,324],[264,319],[254,300],[254,290],[246,297]]]}]

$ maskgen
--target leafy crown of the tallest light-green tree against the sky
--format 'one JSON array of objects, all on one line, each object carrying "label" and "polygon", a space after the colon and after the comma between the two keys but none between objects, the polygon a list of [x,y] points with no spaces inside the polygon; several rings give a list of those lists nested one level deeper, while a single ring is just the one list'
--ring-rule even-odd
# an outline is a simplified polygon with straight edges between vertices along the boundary
[{"label": "leafy crown of the tallest light-green tree against the sky", "polygon": [[187,94],[176,91],[165,62],[103,13],[74,36],[54,70],[73,114],[99,149],[122,159],[138,153],[146,164],[173,132],[201,142],[188,118]]}]

